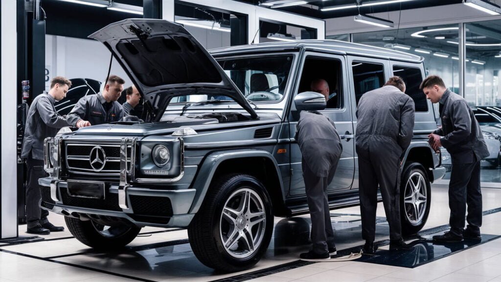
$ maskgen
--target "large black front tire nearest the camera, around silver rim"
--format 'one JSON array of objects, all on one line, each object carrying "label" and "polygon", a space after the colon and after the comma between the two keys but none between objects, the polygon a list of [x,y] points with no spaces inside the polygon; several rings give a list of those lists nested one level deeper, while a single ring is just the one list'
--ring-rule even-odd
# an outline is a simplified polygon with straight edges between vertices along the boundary
[{"label": "large black front tire nearest the camera, around silver rim", "polygon": [[[249,254],[246,257],[234,257],[234,255],[231,254],[231,250],[226,250],[224,246],[222,237],[227,236],[227,233],[230,232],[228,231],[227,233],[224,233],[222,231],[225,224],[222,219],[222,212],[223,208],[227,204],[227,201],[230,203],[232,199],[237,198],[239,191],[243,191],[243,189],[250,189],[255,192],[255,195],[253,194],[252,197],[259,196],[261,198],[261,203],[263,205],[261,213],[263,213],[265,220],[263,223],[257,225],[257,229],[259,230],[257,232],[260,232],[261,241],[259,245],[255,245],[253,253],[250,253],[249,251]],[[252,191],[249,192],[249,194],[252,193]],[[256,198],[254,198],[254,200],[256,201]],[[254,204],[257,206],[256,202],[254,202]],[[237,209],[235,209],[235,211]],[[242,210],[243,209],[244,208],[242,208]],[[238,217],[238,215],[235,215],[235,217],[235,222],[238,222],[240,217]],[[253,223],[250,219],[251,218],[248,218],[248,223]],[[228,224],[228,226],[233,225]],[[234,226],[236,226],[236,224]],[[242,226],[242,228],[245,227]],[[250,234],[253,234],[253,230],[256,229],[254,229],[254,227],[250,227]],[[236,227],[234,227],[233,231],[235,231],[235,235],[238,236],[238,229]],[[242,231],[245,233],[245,230]],[[200,262],[219,271],[235,272],[248,269],[254,266],[261,259],[270,243],[272,231],[273,208],[270,196],[264,185],[253,176],[231,174],[224,175],[212,182],[202,206],[188,226],[188,237],[193,253],[198,260],[200,260]],[[243,234],[242,232],[240,233]],[[227,237],[229,238],[227,238],[226,242],[228,242],[233,236],[229,235]],[[239,240],[242,239],[243,238],[235,241],[239,242]],[[248,239],[245,240],[247,241]],[[236,246],[239,248],[240,243],[237,243]]]}]

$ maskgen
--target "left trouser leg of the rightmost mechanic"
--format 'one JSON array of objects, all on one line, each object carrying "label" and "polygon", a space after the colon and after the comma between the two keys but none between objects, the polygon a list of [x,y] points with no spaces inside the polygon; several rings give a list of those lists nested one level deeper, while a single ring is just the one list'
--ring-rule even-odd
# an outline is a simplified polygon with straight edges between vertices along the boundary
[{"label": "left trouser leg of the rightmost mechanic", "polygon": [[[473,168],[476,165],[477,162],[471,164],[452,164],[449,181],[449,224],[450,232],[457,236],[462,236],[464,217],[466,215],[466,187],[470,181]],[[479,186],[478,190],[480,190]]]}]

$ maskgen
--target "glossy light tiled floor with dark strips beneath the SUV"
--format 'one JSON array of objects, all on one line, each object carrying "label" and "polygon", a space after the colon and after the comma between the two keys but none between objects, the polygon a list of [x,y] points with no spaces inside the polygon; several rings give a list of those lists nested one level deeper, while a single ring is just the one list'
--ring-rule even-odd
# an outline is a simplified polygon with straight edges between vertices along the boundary
[{"label": "glossy light tiled floor with dark strips beneath the SUV", "polygon": [[[449,214],[447,187],[433,186],[432,191],[433,202],[430,216],[424,227],[428,232],[422,233],[422,236],[425,237],[431,235],[430,230],[436,233],[447,229],[445,226]],[[484,211],[501,207],[501,189],[483,189],[482,191]],[[363,244],[358,214],[359,207],[357,206],[331,212],[338,250],[359,248]],[[388,239],[388,224],[384,218],[382,204],[378,205],[377,216],[376,241],[384,243]],[[57,225],[64,224],[62,217],[53,214],[51,214],[51,221]],[[26,225],[21,226],[20,235],[24,235],[25,230]],[[32,281],[35,276],[37,281],[51,282],[243,281],[247,279],[321,282],[331,280],[365,281],[377,280],[378,278],[381,281],[432,280],[461,269],[461,271],[466,272],[474,271],[467,267],[494,256],[498,256],[498,260],[492,259],[489,264],[501,261],[501,239],[499,239],[472,246],[458,254],[449,254],[448,256],[445,254],[446,246],[418,241],[413,261],[416,261],[416,257],[420,262],[430,261],[430,253],[433,254],[432,257],[436,257],[436,254],[446,257],[424,265],[419,264],[412,269],[392,266],[391,264],[376,264],[376,261],[370,261],[375,263],[359,261],[305,263],[298,258],[299,253],[310,248],[309,230],[309,215],[276,218],[273,238],[263,259],[254,268],[237,273],[215,272],[200,263],[187,243],[187,232],[184,229],[143,228],[141,235],[132,241],[125,250],[107,253],[90,249],[71,237],[68,231],[65,231],[45,236],[47,239],[44,241],[19,245],[0,244],[0,281]],[[501,235],[501,212],[485,213],[481,231],[485,234]],[[490,238],[489,235],[484,235],[483,240]],[[469,246],[469,243],[465,242],[463,248],[464,245]],[[382,250],[379,251],[380,257],[385,256],[385,248],[387,249],[387,246],[382,247]],[[430,252],[430,249],[433,251]],[[424,250],[427,252],[423,252]],[[481,250],[481,253],[477,250]],[[449,248],[449,253],[450,251]],[[418,253],[417,256],[416,253]],[[401,255],[403,256],[403,254]],[[376,257],[369,259],[375,260]],[[387,260],[391,259],[395,259],[395,257]],[[409,262],[407,266],[411,264]],[[437,264],[441,265],[440,269],[433,270],[432,268]],[[442,264],[447,264],[448,268]],[[499,266],[497,269],[501,270]],[[459,268],[456,269],[456,267]],[[408,272],[419,269],[421,269],[419,275],[416,275],[418,272]],[[430,270],[423,271],[422,269]],[[443,269],[450,271],[445,273],[442,271]],[[501,272],[494,275],[496,273],[495,270],[492,270],[485,277],[492,279],[501,275]],[[462,275],[467,276],[468,274]],[[482,276],[481,273],[479,275]],[[501,280],[497,282],[501,282]]]}]

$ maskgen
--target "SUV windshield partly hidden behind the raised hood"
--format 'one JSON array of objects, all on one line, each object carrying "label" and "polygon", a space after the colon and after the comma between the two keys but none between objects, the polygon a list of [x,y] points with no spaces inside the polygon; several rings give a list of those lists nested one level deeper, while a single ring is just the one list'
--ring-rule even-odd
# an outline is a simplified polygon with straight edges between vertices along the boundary
[{"label": "SUV windshield partly hidden behind the raised hood", "polygon": [[[251,102],[282,100],[291,72],[292,55],[243,57],[217,60],[226,75]],[[189,103],[220,100],[233,102],[223,95],[183,95],[171,103]]]}]

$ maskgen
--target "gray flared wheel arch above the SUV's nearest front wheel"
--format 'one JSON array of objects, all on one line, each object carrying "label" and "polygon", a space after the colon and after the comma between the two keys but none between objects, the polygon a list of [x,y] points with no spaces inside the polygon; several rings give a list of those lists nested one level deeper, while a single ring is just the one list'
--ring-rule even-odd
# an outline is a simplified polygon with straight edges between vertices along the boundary
[{"label": "gray flared wheel arch above the SUV's nearest front wheel", "polygon": [[214,152],[207,156],[193,184],[197,192],[189,213],[196,213],[199,210],[212,181],[228,173],[242,173],[256,177],[270,194],[274,214],[277,216],[289,214],[290,211],[285,206],[284,184],[279,166],[272,154],[263,150]]}]

